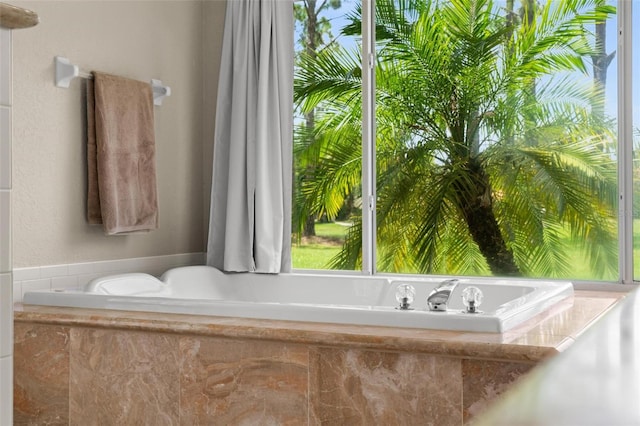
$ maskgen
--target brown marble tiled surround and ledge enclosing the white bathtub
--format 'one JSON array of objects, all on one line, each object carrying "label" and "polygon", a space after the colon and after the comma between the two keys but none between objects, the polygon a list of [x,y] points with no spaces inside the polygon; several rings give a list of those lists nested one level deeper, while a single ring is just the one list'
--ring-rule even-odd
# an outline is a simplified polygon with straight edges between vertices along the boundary
[{"label": "brown marble tiled surround and ledge enclosing the white bathtub", "polygon": [[622,296],[503,334],[17,305],[15,424],[460,425]]}]

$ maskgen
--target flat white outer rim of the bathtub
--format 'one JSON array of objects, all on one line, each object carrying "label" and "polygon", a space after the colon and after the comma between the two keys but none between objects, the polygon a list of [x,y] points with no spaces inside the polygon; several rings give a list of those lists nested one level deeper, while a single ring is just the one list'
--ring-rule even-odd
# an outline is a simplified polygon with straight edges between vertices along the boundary
[{"label": "flat white outer rim of the bathtub", "polygon": [[[201,265],[194,265],[199,267]],[[189,268],[187,266],[186,268]],[[300,274],[291,274],[300,275]],[[324,276],[324,274],[320,274]],[[329,275],[333,278],[339,275]],[[350,278],[362,277],[362,275],[347,275]],[[419,281],[420,277],[391,277],[386,275],[376,275],[374,278],[387,279],[389,286],[398,282]],[[399,278],[399,279],[398,279]],[[430,281],[434,277],[429,277]],[[439,279],[439,278],[436,278]],[[477,278],[480,282],[488,282],[489,277]],[[508,279],[496,278],[497,282]],[[517,325],[527,322],[529,319],[541,314],[560,301],[572,298],[574,295],[573,285],[568,281],[540,281],[515,279],[522,286],[530,285],[540,290],[534,291],[534,297],[523,301],[523,298],[516,298],[510,304],[510,310],[498,309],[480,315],[464,314],[461,316],[458,311],[450,312],[430,312],[415,310],[409,312],[398,311],[391,307],[378,307],[370,305],[313,305],[302,303],[283,304],[273,302],[236,302],[232,300],[219,301],[215,299],[173,299],[166,297],[140,297],[140,296],[116,296],[105,294],[91,294],[80,291],[65,289],[57,290],[35,290],[25,293],[24,304],[62,306],[68,308],[89,308],[89,309],[109,309],[119,311],[141,311],[141,312],[168,312],[176,314],[197,314],[218,317],[238,317],[253,319],[273,319],[284,321],[303,321],[313,323],[335,323],[354,324],[371,326],[388,326],[397,328],[412,329],[432,329],[432,330],[453,330],[462,332],[490,332],[505,333]],[[499,285],[499,284],[496,284]],[[542,293],[542,294],[541,294]],[[544,298],[542,302],[540,300]],[[55,303],[51,303],[52,300]],[[164,308],[164,309],[162,309]],[[256,310],[259,309],[258,310]],[[374,309],[375,308],[375,311]],[[215,309],[212,312],[212,309]],[[355,313],[355,315],[354,315]],[[268,315],[266,315],[268,314]],[[302,316],[300,316],[302,315]],[[473,317],[469,317],[473,315]],[[346,319],[345,319],[346,316]],[[425,324],[425,321],[428,323]],[[471,325],[469,325],[471,323]]]}]

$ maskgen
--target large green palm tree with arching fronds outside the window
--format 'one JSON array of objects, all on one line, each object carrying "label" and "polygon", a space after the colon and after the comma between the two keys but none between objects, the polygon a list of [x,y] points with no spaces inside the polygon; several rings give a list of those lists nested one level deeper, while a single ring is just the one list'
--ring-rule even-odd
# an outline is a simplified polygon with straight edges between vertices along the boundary
[{"label": "large green palm tree with arching fronds outside the window", "polygon": [[[595,274],[615,270],[616,168],[591,119],[594,53],[585,26],[613,9],[548,1],[514,26],[490,0],[378,0],[378,268],[388,272],[566,276],[569,232]],[[360,16],[344,30],[358,33]],[[316,116],[303,191],[329,216],[357,191],[360,58],[305,58],[294,96]],[[361,226],[332,266],[360,259]]]}]

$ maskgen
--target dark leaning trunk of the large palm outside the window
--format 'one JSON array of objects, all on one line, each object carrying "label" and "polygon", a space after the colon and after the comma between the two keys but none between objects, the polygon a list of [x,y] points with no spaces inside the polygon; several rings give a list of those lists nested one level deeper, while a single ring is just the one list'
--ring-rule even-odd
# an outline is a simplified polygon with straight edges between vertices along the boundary
[{"label": "dark leaning trunk of the large palm outside the window", "polygon": [[489,175],[475,159],[467,161],[467,174],[454,183],[459,208],[473,240],[494,275],[520,275],[513,253],[507,247],[493,211]]}]

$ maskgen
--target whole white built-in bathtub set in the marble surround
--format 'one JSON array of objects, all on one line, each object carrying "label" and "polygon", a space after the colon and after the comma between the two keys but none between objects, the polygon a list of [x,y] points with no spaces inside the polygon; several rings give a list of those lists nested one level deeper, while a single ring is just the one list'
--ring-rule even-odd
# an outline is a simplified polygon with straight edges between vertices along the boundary
[{"label": "whole white built-in bathtub set in the marble surround", "polygon": [[[446,312],[426,310],[427,296],[442,278],[358,275],[226,274],[208,266],[147,274],[112,275],[80,290],[32,291],[25,304],[504,332],[573,295],[569,282],[460,278]],[[396,288],[416,289],[413,310],[398,310]],[[482,313],[464,312],[461,293],[484,293]]]}]

